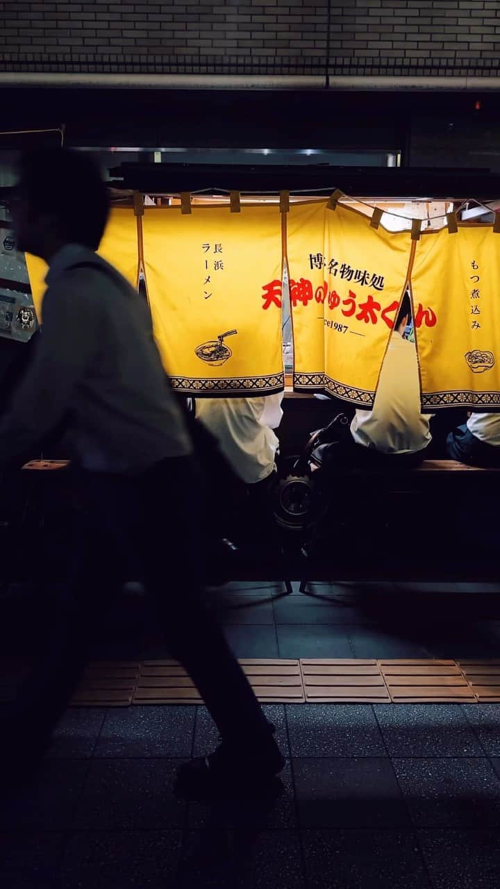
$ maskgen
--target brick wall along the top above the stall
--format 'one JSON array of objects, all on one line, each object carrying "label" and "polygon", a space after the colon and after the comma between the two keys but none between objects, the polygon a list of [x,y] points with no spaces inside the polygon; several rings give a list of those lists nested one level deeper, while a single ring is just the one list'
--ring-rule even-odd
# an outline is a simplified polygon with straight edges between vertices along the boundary
[{"label": "brick wall along the top above the stall", "polygon": [[2,0],[0,70],[498,76],[499,0]]}]

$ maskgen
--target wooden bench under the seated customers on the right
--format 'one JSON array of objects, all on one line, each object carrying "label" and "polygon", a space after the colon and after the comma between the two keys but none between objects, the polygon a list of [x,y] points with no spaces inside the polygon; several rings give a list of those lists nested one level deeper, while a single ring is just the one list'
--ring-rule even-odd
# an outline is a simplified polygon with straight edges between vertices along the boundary
[{"label": "wooden bench under the seated customers on the right", "polygon": [[[495,549],[491,546],[488,551],[485,543],[487,534],[495,533],[496,523],[493,525],[490,519],[497,511],[499,484],[500,469],[450,460],[427,460],[415,469],[393,472],[383,468],[352,469],[344,477],[338,496],[351,498],[351,507],[354,503],[351,517],[359,516],[359,549],[353,557],[352,549],[335,539],[332,525],[328,556],[310,553],[302,565],[300,589],[305,592],[308,581],[496,580],[500,568]],[[459,517],[466,512],[468,501],[470,525],[463,528]],[[380,520],[376,531],[384,542],[378,554],[373,549],[368,552],[362,540],[363,533],[372,532],[377,516]],[[388,517],[399,521],[391,530],[388,528],[384,541],[381,527],[387,527]],[[454,521],[466,531],[464,541],[456,536]]]}]

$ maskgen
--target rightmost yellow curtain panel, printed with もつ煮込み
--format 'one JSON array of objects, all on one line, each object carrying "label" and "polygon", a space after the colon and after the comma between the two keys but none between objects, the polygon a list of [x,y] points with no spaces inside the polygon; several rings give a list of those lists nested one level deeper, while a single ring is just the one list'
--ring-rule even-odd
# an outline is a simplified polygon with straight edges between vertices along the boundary
[{"label": "rightmost yellow curtain panel, printed with \u3082\u3064\u716e\u8fbc\u307f", "polygon": [[[500,237],[423,235],[411,276],[423,406],[500,405]],[[431,313],[419,311],[427,304]]]}]

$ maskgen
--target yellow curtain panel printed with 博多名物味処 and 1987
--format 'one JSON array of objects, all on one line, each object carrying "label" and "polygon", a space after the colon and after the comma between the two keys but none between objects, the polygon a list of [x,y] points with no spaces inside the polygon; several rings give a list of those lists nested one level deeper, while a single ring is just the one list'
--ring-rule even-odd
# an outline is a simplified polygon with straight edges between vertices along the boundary
[{"label": "yellow curtain panel printed with \u535a\u591a\u540d\u7269\u5473\u51e6 and 1987", "polygon": [[369,408],[407,281],[411,239],[407,232],[375,230],[365,216],[340,205],[331,211],[325,204],[322,243],[320,230],[311,213],[309,225],[290,228],[288,240],[300,361],[294,388],[324,388]]}]

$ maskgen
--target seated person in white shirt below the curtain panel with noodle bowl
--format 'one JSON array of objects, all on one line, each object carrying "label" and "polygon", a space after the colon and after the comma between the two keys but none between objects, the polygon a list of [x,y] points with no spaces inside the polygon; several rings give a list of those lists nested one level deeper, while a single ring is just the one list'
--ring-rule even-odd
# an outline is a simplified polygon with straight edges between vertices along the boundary
[{"label": "seated person in white shirt below the curtain panel with noodle bowl", "polygon": [[[262,529],[267,522],[279,444],[273,429],[283,416],[282,400],[282,392],[256,398],[196,399],[197,419],[217,439],[233,470],[232,477],[220,480],[221,498],[231,521],[241,520],[241,533],[248,531],[253,519],[260,521],[261,517]],[[246,510],[242,509],[243,498]],[[241,527],[244,520],[245,531]]]}]

